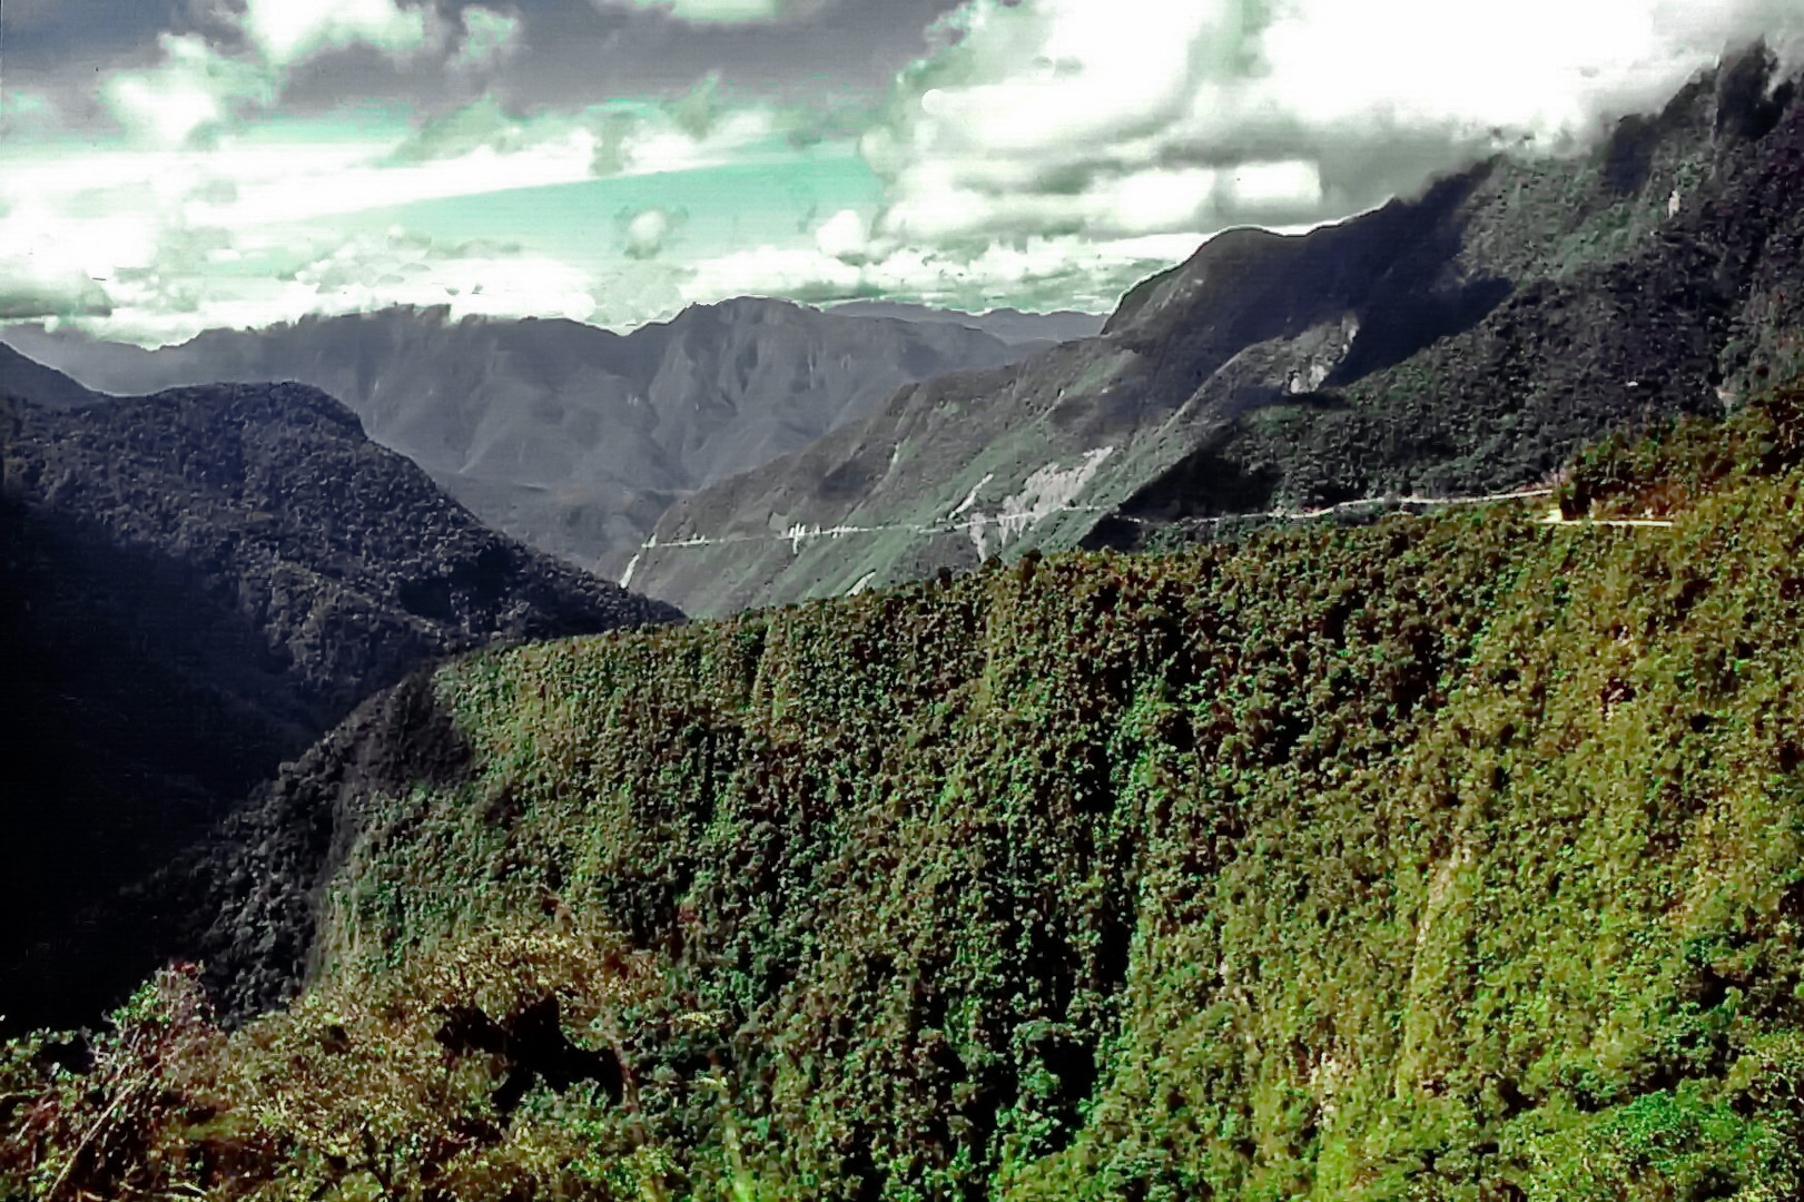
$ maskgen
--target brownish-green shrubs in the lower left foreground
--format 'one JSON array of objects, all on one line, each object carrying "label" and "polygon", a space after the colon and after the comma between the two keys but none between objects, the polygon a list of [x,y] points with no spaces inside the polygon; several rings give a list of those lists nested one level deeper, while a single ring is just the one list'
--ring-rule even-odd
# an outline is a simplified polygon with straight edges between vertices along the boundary
[{"label": "brownish-green shrubs in the lower left foreground", "polygon": [[[615,938],[568,920],[489,933],[381,980],[339,976],[231,1036],[197,976],[159,975],[92,1045],[9,1045],[0,1186],[47,1200],[658,1191],[657,1150],[631,1123],[597,1124],[631,1110],[621,1016],[655,985]],[[552,1016],[550,1040],[534,1014]]]}]

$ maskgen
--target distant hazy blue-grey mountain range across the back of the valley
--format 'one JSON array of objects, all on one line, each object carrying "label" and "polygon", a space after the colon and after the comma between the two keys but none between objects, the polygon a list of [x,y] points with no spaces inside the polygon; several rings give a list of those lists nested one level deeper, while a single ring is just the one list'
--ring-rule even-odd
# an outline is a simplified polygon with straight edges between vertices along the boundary
[{"label": "distant hazy blue-grey mountain range across the back of the valley", "polygon": [[105,392],[222,379],[323,388],[489,525],[608,576],[675,498],[808,446],[897,384],[1028,354],[958,323],[758,298],[624,336],[391,309],[211,330],[157,352],[7,337]]}]

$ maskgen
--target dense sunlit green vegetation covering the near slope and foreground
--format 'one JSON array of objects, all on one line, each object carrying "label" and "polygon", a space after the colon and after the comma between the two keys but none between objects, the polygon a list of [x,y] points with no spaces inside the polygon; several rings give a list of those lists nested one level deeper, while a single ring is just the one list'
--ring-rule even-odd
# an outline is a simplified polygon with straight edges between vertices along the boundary
[{"label": "dense sunlit green vegetation covering the near slope and foreground", "polygon": [[[301,1000],[0,1061],[0,1193],[1791,1198],[1804,393],[1544,504],[435,677]],[[372,753],[375,754],[375,753]]]}]

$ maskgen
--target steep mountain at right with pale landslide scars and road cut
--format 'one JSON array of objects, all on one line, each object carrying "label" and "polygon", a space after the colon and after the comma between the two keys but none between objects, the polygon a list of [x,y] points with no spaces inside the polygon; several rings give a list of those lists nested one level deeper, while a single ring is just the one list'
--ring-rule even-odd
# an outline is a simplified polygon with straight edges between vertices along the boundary
[{"label": "steep mountain at right with pale landslide scars and road cut", "polygon": [[1804,105],[1750,51],[1582,161],[1496,159],[1304,236],[1236,229],[1099,337],[897,390],[680,500],[631,583],[695,614],[1003,550],[1530,485],[1804,357]]}]

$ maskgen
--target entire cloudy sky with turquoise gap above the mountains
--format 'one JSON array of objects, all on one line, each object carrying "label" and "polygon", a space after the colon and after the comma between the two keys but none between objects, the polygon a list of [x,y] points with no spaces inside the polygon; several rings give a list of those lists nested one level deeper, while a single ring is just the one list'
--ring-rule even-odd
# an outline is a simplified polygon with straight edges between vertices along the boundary
[{"label": "entire cloudy sky with turquoise gap above the mountains", "polygon": [[1763,36],[1804,0],[0,0],[0,323],[1106,312]]}]

